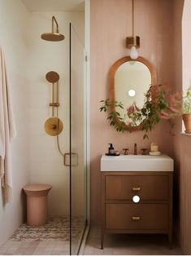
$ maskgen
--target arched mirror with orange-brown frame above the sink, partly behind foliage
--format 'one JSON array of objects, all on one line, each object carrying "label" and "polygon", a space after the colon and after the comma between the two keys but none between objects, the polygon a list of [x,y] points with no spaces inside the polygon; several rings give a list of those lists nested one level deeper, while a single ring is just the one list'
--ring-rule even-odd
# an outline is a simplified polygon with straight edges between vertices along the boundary
[{"label": "arched mirror with orange-brown frame above the sink, partly behind foliage", "polygon": [[[120,117],[127,114],[127,108],[135,104],[142,108],[145,93],[150,85],[156,85],[156,71],[150,61],[143,57],[132,60],[130,56],[119,59],[111,67],[110,73],[111,101],[116,100],[124,105],[124,109],[117,109]],[[125,130],[141,130],[139,126],[129,126],[126,118]]]}]

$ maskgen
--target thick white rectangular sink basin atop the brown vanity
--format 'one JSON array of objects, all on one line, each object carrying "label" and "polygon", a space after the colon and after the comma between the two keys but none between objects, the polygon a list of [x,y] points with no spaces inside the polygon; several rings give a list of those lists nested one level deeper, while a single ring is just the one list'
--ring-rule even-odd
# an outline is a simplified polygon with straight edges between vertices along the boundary
[{"label": "thick white rectangular sink basin atop the brown vanity", "polygon": [[173,171],[174,161],[167,155],[102,156],[101,171]]}]

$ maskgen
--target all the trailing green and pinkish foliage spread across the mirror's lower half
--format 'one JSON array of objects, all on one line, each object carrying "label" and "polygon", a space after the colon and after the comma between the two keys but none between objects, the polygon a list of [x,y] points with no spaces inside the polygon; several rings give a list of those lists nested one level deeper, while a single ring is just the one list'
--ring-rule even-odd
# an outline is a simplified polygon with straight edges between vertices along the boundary
[{"label": "all the trailing green and pinkish foliage spread across the mirror's lower half", "polygon": [[[190,95],[189,95],[190,97]],[[141,123],[141,130],[145,131],[143,139],[149,139],[147,133],[151,131],[161,119],[169,121],[173,127],[172,118],[181,114],[182,95],[180,93],[171,93],[167,86],[150,86],[145,94],[145,103],[141,109],[136,104],[132,104],[127,109],[127,115],[120,117],[116,108],[124,108],[121,102],[102,100],[100,111],[109,111],[107,119],[111,121],[117,131],[124,131],[127,117],[130,119],[129,126],[138,126]],[[115,107],[115,108],[114,108]]]}]

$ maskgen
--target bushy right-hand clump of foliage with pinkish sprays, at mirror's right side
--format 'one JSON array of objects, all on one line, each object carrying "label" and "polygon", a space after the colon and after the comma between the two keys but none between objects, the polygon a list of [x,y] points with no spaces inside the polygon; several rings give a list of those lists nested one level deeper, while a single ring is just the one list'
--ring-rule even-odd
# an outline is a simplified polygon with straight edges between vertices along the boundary
[{"label": "bushy right-hand clump of foliage with pinkish sprays, at mirror's right side", "polygon": [[180,93],[171,93],[167,86],[150,86],[145,95],[143,108],[133,113],[128,108],[128,117],[132,120],[132,126],[137,126],[137,122],[141,122],[141,130],[145,131],[143,139],[149,139],[148,131],[151,131],[161,119],[168,120],[172,128],[172,118],[180,115],[180,109]]}]

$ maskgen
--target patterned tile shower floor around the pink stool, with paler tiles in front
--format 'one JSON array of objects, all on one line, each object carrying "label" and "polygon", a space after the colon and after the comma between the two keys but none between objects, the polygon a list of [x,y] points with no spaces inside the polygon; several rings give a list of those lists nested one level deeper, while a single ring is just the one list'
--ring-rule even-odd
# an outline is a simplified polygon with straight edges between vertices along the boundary
[{"label": "patterned tile shower floor around the pink stool, with paler tiles in front", "polygon": [[[1,255],[68,255],[69,217],[50,218],[45,226],[22,224],[10,239],[0,247]],[[72,241],[80,239],[84,229],[83,218],[72,218]]]}]

